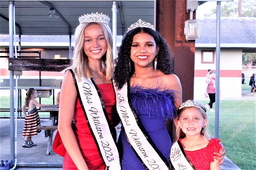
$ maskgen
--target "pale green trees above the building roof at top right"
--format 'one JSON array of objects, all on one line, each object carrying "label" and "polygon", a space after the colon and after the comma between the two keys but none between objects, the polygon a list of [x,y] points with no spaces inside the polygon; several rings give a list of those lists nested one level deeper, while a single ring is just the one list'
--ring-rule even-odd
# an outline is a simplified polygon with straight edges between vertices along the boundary
[{"label": "pale green trees above the building roof at top right", "polygon": [[[238,17],[238,1],[221,2],[221,16]],[[216,16],[216,8],[211,9],[211,12],[204,16]],[[256,17],[256,0],[241,0],[241,17]]]}]

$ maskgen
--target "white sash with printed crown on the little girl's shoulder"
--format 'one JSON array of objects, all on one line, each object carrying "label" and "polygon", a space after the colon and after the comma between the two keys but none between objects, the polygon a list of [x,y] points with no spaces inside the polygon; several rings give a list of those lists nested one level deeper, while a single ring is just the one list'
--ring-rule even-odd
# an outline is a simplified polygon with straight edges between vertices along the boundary
[{"label": "white sash with printed crown on the little girl's shoulder", "polygon": [[171,146],[171,164],[174,166],[175,170],[195,170],[195,167],[189,161],[187,157],[185,157],[185,152],[181,143],[179,144],[177,141]]}]

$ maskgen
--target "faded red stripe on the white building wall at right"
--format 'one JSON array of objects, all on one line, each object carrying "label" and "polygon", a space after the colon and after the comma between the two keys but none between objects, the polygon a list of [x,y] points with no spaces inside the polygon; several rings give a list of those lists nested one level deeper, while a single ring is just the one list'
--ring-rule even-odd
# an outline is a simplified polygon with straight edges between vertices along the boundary
[{"label": "faded red stripe on the white building wall at right", "polygon": [[[215,70],[213,70],[215,72]],[[221,78],[241,78],[241,70],[220,70]],[[206,77],[207,70],[195,70],[195,77]]]}]

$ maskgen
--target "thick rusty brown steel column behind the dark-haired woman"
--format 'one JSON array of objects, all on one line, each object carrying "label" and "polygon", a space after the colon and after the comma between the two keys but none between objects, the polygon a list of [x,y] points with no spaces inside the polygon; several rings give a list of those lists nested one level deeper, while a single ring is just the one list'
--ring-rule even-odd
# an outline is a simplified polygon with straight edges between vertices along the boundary
[{"label": "thick rusty brown steel column behind the dark-haired woman", "polygon": [[156,0],[156,30],[174,55],[175,75],[180,78],[183,101],[194,98],[195,41],[186,41],[184,24],[189,20],[186,0]]}]

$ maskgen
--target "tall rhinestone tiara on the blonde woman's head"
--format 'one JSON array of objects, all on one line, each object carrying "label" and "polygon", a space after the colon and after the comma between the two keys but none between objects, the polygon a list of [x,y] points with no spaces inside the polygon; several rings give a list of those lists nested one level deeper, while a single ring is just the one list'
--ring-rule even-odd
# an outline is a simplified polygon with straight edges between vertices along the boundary
[{"label": "tall rhinestone tiara on the blonde woman's head", "polygon": [[99,14],[98,12],[91,13],[91,14],[86,14],[86,15],[81,15],[81,17],[78,18],[79,23],[85,23],[85,22],[102,22],[105,24],[108,24],[110,22],[110,18],[108,15],[105,14]]}]

